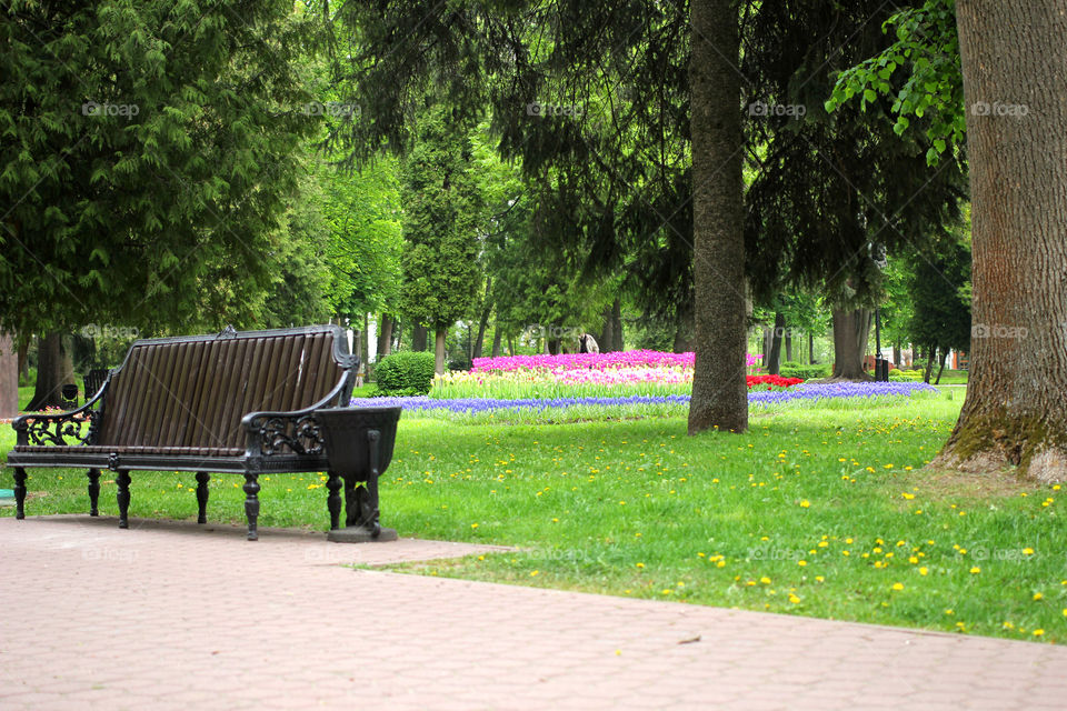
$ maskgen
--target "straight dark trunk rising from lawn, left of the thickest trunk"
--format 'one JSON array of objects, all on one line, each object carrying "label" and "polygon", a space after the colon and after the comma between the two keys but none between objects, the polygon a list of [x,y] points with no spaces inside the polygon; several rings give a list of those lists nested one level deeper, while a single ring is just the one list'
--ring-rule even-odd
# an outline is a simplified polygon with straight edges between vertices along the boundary
[{"label": "straight dark trunk rising from lawn, left of the thickest trunk", "polygon": [[696,363],[689,433],[748,429],[745,387],[745,209],[738,12],[730,0],[692,0],[689,59],[692,137],[692,273]]}]

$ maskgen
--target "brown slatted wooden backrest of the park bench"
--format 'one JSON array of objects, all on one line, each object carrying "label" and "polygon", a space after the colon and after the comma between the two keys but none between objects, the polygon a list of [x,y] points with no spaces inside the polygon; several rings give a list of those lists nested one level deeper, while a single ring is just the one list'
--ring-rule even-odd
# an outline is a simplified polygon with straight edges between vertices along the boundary
[{"label": "brown slatted wooden backrest of the park bench", "polygon": [[358,361],[337,326],[144,339],[104,392],[96,443],[242,448],[241,418],[311,407],[348,383]]}]

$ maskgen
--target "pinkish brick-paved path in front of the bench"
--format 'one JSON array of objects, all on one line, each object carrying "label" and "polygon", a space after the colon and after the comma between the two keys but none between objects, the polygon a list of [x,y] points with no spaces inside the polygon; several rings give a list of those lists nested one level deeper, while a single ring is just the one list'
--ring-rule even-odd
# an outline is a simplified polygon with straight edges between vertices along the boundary
[{"label": "pinkish brick-paved path in front of the bench", "polygon": [[338,564],[472,545],[136,523],[0,519],[0,709],[1067,707],[1065,647]]}]

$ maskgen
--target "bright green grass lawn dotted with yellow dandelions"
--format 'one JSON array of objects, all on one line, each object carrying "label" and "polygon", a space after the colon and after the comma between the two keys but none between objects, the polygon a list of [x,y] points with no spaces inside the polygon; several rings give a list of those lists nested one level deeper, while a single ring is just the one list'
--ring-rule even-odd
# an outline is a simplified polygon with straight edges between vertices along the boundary
[{"label": "bright green grass lawn dotted with yellow dandelions", "polygon": [[[402,535],[520,548],[400,568],[422,574],[1067,643],[1060,490],[921,470],[963,394],[784,408],[747,434],[697,438],[681,418],[405,415],[382,518]],[[87,511],[82,472],[30,475],[30,515]],[[0,488],[11,481],[4,470]],[[263,527],[326,530],[321,477],[260,481]],[[240,483],[212,479],[209,518],[243,522]],[[134,472],[131,515],[192,520],[195,487],[191,473]]]}]

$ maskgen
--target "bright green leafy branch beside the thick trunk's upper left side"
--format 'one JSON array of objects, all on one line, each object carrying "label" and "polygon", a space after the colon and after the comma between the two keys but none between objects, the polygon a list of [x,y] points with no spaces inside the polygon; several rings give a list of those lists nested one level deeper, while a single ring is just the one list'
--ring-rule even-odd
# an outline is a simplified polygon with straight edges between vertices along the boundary
[{"label": "bright green leafy branch beside the thick trunk's upper left side", "polygon": [[[826,101],[835,111],[858,99],[861,110],[879,97],[894,99],[890,112],[898,136],[916,120],[930,141],[926,160],[935,164],[947,150],[964,149],[966,120],[964,82],[956,33],[955,0],[926,0],[900,10],[882,24],[896,30],[896,41],[878,54],[842,71]],[[890,82],[897,73],[906,79]]]}]

